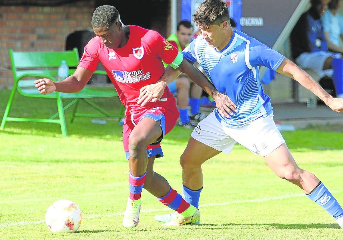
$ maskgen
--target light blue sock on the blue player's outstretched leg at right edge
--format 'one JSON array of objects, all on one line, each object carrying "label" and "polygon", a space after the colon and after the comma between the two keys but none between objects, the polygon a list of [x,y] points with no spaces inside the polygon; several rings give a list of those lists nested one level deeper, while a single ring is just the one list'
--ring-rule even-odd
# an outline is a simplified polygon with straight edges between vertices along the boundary
[{"label": "light blue sock on the blue player's outstretched leg at right edge", "polygon": [[342,207],[322,182],[319,182],[317,187],[309,194],[306,194],[306,196],[308,196],[312,201],[318,203],[335,220],[343,216]]}]

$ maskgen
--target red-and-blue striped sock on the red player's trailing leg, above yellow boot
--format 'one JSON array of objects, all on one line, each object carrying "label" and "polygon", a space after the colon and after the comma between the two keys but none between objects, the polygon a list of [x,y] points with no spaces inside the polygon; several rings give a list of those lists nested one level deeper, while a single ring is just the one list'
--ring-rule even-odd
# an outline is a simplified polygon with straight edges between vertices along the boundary
[{"label": "red-and-blue striped sock on the red player's trailing leg, above yellow boot", "polygon": [[173,188],[170,188],[165,196],[157,199],[185,217],[193,215],[197,211],[196,207],[187,203]]}]

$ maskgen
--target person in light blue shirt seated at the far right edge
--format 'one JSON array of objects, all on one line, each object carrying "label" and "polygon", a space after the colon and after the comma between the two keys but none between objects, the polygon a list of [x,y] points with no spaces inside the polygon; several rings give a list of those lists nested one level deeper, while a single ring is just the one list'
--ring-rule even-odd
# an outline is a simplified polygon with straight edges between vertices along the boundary
[{"label": "person in light blue shirt seated at the far right edge", "polygon": [[343,17],[338,13],[341,3],[341,0],[331,0],[321,19],[328,49],[343,53],[343,48],[340,46],[340,39],[343,39]]}]

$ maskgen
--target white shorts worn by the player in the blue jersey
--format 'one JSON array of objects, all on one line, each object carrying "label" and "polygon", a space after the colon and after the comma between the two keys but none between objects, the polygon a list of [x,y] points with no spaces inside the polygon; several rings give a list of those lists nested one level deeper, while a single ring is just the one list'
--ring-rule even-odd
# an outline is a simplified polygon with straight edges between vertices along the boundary
[{"label": "white shorts worn by the player in the blue jersey", "polygon": [[228,128],[217,120],[214,111],[198,123],[191,137],[226,154],[237,142],[262,157],[285,143],[273,121],[273,115],[258,118],[242,127]]}]

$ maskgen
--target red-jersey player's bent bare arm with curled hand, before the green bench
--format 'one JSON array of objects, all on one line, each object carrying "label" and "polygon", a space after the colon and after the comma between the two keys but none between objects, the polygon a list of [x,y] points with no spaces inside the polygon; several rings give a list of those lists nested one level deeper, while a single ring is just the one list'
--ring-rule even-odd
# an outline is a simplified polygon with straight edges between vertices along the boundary
[{"label": "red-jersey player's bent bare arm with curled hand, before the green bench", "polygon": [[70,75],[63,81],[54,82],[50,79],[38,79],[36,80],[35,87],[41,94],[49,94],[54,91],[62,93],[76,93],[82,90],[82,88],[90,80],[93,72],[81,67],[76,68],[74,74]]}]

